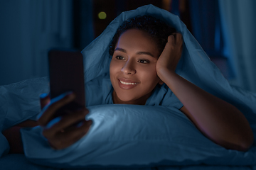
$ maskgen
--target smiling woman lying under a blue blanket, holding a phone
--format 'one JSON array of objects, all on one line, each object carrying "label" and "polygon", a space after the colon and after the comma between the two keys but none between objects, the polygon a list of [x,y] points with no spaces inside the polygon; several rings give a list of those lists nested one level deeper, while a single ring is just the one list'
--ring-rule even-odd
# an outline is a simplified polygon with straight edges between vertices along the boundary
[{"label": "smiling woman lying under a blue blanket, holding a phone", "polygon": [[[169,100],[168,106],[180,109],[198,130],[218,145],[246,151],[253,143],[253,133],[245,116],[235,106],[176,74],[182,46],[182,35],[154,17],[141,16],[125,21],[110,45],[110,81],[113,88],[110,89],[108,103],[147,105],[149,100],[154,100],[152,96],[157,93],[157,87],[166,84],[172,91],[164,95]],[[48,96],[43,96],[40,118],[37,123],[32,122],[43,127],[43,135],[55,149],[63,149],[80,140],[92,125],[91,120],[85,120],[89,112],[83,108],[45,128],[55,111],[74,98],[72,93],[63,94],[52,101]],[[159,105],[162,104],[160,102]],[[82,125],[72,126],[81,120]],[[20,126],[33,126],[28,123],[31,122],[24,122]],[[15,128],[13,130],[18,133]],[[5,134],[11,145],[12,139],[8,133]],[[22,146],[19,146],[11,146],[11,152],[23,152]]]}]

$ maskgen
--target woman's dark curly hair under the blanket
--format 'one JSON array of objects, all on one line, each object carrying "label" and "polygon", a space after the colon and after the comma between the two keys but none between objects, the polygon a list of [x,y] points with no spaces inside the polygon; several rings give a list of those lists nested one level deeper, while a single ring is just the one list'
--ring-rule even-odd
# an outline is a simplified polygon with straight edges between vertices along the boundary
[{"label": "woman's dark curly hair under the blanket", "polygon": [[114,54],[114,47],[117,44],[119,36],[122,35],[122,33],[124,33],[126,30],[132,28],[149,33],[154,42],[156,42],[159,52],[164,50],[168,36],[176,32],[175,28],[168,26],[166,23],[154,18],[153,16],[136,16],[134,18],[129,18],[127,21],[124,21],[121,26],[119,26],[117,32],[112,38],[109,50],[111,56]]}]

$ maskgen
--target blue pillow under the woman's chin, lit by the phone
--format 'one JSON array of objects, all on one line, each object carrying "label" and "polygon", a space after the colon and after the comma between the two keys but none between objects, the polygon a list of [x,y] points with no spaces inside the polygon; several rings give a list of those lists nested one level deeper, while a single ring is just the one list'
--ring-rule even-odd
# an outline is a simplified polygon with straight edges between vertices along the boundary
[{"label": "blue pillow under the woman's chin, lit by the phone", "polygon": [[164,106],[88,107],[93,120],[87,135],[68,148],[51,149],[41,128],[22,129],[26,157],[58,168],[191,164],[255,164],[255,147],[228,150],[201,134],[178,109]]}]

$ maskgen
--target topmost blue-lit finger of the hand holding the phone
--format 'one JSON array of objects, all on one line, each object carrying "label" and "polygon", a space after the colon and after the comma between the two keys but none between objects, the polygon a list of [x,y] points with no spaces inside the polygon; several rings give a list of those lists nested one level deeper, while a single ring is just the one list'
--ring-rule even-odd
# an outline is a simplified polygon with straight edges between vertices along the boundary
[{"label": "topmost blue-lit finger of the hand holding the phone", "polygon": [[70,103],[75,99],[75,94],[65,93],[60,96],[53,98],[46,107],[43,108],[41,114],[38,116],[38,124],[45,126],[50,120],[54,118],[55,112],[59,108],[65,106],[65,104]]}]

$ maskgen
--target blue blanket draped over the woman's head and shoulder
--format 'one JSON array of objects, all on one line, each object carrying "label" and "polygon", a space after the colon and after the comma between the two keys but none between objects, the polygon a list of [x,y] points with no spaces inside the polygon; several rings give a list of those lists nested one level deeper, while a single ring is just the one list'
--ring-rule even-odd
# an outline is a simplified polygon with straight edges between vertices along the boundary
[{"label": "blue blanket draped over the woman's head and shoulder", "polygon": [[111,57],[108,50],[110,41],[123,21],[144,15],[161,19],[183,35],[183,53],[176,73],[210,94],[236,106],[245,114],[250,125],[256,128],[256,95],[230,86],[228,80],[210,61],[206,52],[203,51],[201,45],[198,44],[180,18],[153,5],[142,6],[136,10],[121,13],[97,39],[82,50],[85,63],[85,82],[109,72]]}]

